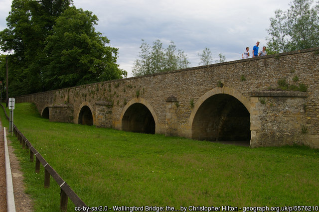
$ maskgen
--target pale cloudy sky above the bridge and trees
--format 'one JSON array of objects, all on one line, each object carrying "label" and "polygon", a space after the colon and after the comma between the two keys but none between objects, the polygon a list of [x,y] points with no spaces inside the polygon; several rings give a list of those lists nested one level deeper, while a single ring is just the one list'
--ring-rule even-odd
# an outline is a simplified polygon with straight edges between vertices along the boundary
[{"label": "pale cloudy sky above the bridge and trees", "polygon": [[[227,61],[241,59],[245,47],[256,41],[266,45],[270,17],[276,9],[287,10],[291,0],[73,0],[77,8],[99,18],[96,30],[119,49],[118,64],[132,76],[142,39],[151,44],[160,39],[167,47],[173,41],[187,54],[191,67],[200,62],[198,53],[210,48]],[[11,0],[0,0],[0,30]]]}]

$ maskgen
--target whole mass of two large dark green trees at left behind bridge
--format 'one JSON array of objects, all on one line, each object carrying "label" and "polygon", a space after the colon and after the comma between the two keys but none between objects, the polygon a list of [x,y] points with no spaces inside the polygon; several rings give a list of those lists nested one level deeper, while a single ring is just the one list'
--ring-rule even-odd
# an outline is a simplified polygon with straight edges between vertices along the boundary
[{"label": "whole mass of two large dark green trees at left behind bridge", "polygon": [[118,49],[96,32],[98,18],[72,0],[13,0],[0,32],[10,52],[10,96],[119,79]]}]

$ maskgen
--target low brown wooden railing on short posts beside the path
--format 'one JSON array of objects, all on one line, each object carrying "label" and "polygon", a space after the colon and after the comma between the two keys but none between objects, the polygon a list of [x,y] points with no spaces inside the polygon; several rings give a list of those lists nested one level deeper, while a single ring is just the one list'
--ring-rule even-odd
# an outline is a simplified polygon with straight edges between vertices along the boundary
[{"label": "low brown wooden railing on short posts beside the path", "polygon": [[[1,105],[2,106],[2,105]],[[2,106],[3,107],[3,106]],[[5,108],[3,107],[4,114],[9,120],[8,115],[6,114]],[[71,187],[60,177],[60,175],[46,162],[42,155],[32,146],[28,139],[20,132],[20,130],[13,125],[13,132],[17,139],[22,144],[22,148],[30,149],[30,161],[33,162],[35,156],[35,172],[40,172],[40,164],[44,167],[44,188],[50,187],[50,176],[55,180],[55,182],[60,186],[60,210],[67,211],[68,198],[74,203],[78,208],[87,209],[88,207],[85,203],[75,194]]]}]

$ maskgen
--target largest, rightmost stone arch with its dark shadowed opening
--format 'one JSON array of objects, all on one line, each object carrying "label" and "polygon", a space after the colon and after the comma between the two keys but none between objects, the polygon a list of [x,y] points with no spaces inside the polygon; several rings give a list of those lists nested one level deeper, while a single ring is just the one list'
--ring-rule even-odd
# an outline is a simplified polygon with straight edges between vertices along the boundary
[{"label": "largest, rightmost stone arch with its dark shadowed opening", "polygon": [[199,98],[193,108],[189,119],[191,138],[241,141],[241,144],[249,145],[249,111],[249,101],[236,90],[214,88]]}]

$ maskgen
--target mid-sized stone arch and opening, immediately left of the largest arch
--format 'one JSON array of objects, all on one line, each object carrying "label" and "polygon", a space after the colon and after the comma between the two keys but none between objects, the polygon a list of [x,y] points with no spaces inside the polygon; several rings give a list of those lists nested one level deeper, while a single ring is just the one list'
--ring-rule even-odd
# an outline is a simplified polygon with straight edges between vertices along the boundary
[{"label": "mid-sized stone arch and opening, immediately left of the largest arch", "polygon": [[154,134],[159,121],[151,104],[143,98],[134,98],[124,106],[120,117],[124,131]]}]

